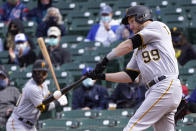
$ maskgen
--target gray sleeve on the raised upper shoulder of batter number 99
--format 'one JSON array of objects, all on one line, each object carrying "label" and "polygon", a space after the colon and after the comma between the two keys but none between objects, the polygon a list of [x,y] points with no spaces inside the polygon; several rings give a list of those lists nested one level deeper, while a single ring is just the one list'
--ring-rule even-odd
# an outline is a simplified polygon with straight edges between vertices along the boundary
[{"label": "gray sleeve on the raised upper shoulder of batter number 99", "polygon": [[155,42],[161,38],[160,30],[156,27],[146,27],[138,33],[142,38],[142,45]]}]

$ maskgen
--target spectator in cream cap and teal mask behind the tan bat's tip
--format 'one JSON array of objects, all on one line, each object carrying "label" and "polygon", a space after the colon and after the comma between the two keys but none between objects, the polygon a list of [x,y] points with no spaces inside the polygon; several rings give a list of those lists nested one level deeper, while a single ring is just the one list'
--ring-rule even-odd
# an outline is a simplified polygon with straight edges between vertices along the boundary
[{"label": "spectator in cream cap and teal mask behind the tan bat's tip", "polygon": [[[71,62],[71,54],[68,50],[60,46],[61,31],[58,27],[52,26],[48,30],[48,39],[46,39],[48,54],[55,67],[59,67],[64,63]],[[39,53],[39,58],[43,58],[42,53]]]}]

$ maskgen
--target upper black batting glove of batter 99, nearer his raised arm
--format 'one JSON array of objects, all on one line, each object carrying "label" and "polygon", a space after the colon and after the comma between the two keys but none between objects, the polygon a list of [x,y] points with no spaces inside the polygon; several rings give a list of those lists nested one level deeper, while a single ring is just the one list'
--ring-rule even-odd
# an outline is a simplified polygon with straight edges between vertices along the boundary
[{"label": "upper black batting glove of batter 99, nearer his raised arm", "polygon": [[102,61],[100,61],[99,63],[96,64],[94,72],[96,74],[103,73],[103,71],[105,70],[108,62],[109,62],[109,60],[105,56]]}]

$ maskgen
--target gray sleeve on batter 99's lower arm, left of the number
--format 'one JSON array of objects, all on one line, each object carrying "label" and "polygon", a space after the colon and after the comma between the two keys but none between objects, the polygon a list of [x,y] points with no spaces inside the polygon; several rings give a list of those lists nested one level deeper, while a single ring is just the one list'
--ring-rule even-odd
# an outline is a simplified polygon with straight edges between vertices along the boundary
[{"label": "gray sleeve on batter 99's lower arm, left of the number", "polygon": [[137,49],[134,50],[133,56],[126,66],[126,70],[133,70],[133,71],[137,71],[139,73],[140,71],[139,71],[137,61],[136,61],[136,57],[137,57],[136,53],[137,53]]}]

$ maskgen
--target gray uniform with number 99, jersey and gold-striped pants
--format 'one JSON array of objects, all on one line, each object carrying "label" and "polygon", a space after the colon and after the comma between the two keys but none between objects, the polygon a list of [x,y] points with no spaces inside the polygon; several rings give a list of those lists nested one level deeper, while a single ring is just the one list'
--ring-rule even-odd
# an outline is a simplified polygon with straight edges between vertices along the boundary
[{"label": "gray uniform with number 99, jersey and gold-striped pants", "polygon": [[[143,131],[152,125],[155,131],[174,131],[182,88],[170,30],[164,23],[153,21],[138,34],[144,46],[134,50],[127,69],[140,72],[143,82],[155,83],[123,131]],[[164,79],[159,80],[161,76]]]}]

